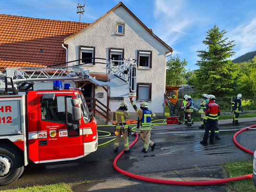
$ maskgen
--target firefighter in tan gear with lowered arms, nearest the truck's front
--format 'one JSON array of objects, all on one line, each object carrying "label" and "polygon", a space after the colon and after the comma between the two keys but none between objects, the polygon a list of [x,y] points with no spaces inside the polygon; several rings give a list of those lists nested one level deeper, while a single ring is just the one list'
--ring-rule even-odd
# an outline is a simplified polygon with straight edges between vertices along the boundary
[{"label": "firefighter in tan gear with lowered arms, nearest the truck's front", "polygon": [[128,105],[126,102],[122,102],[120,104],[120,108],[116,110],[116,140],[114,142],[115,153],[118,152],[121,135],[123,138],[124,153],[130,153],[128,142],[128,126],[126,125],[126,119],[128,119],[130,115],[126,112],[128,110],[127,106]]}]

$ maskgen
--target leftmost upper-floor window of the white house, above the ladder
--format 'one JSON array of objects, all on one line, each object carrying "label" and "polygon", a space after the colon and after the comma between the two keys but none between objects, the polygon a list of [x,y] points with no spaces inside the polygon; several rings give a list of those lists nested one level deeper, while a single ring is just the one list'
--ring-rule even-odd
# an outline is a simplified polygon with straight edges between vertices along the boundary
[{"label": "leftmost upper-floor window of the white house, above the ladder", "polygon": [[95,47],[79,46],[79,64],[95,65]]}]

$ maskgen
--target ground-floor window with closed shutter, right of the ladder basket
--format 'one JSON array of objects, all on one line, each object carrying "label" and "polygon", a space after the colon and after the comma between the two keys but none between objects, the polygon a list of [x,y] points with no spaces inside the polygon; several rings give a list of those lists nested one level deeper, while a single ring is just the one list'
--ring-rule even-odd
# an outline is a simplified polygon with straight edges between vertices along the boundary
[{"label": "ground-floor window with closed shutter, right of the ladder basket", "polygon": [[151,101],[151,83],[137,83],[137,97],[139,101]]}]

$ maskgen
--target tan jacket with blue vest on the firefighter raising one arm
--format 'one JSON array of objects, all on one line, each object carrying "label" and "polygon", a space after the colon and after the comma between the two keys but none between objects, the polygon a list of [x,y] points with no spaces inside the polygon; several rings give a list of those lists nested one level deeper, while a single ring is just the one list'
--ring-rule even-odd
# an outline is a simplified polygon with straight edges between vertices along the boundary
[{"label": "tan jacket with blue vest on the firefighter raising one arm", "polygon": [[151,130],[152,122],[151,120],[156,118],[156,114],[150,110],[142,110],[141,108],[137,108],[134,101],[131,101],[133,108],[135,109],[137,115],[139,116],[139,129],[140,130]]}]

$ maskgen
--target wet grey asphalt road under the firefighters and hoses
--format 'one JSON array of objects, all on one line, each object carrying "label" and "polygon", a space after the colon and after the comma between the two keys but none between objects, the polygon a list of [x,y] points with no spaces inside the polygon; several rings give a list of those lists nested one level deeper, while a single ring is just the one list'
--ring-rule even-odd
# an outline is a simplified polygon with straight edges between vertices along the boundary
[{"label": "wet grey asphalt road under the firefighters and hoses", "polygon": [[[155,126],[151,136],[151,139],[157,143],[155,151],[149,150],[147,154],[142,153],[143,142],[138,140],[131,148],[132,152],[121,157],[118,166],[134,174],[158,179],[214,180],[224,178],[220,164],[253,158],[252,155],[233,144],[232,136],[236,131],[227,131],[256,124],[255,118],[240,119],[240,122],[242,121],[240,125],[234,126],[227,124],[230,120],[219,120],[219,128],[223,130],[220,132],[221,140],[215,140],[214,144],[207,146],[199,144],[204,134],[198,129],[199,122],[195,122],[192,128],[187,128],[185,125]],[[99,130],[113,132],[112,129],[110,127],[99,128]],[[255,136],[256,131],[250,130],[240,133],[237,141],[254,151],[256,149]],[[130,142],[134,139],[135,137],[129,138]],[[99,144],[107,140],[99,139]],[[122,145],[120,148],[122,149]],[[120,190],[130,192],[134,189],[148,192],[168,190],[226,192],[225,185],[173,186],[135,180],[122,175],[113,168],[112,162],[115,156],[113,143],[110,143],[99,147],[97,152],[75,161],[61,162],[57,165],[32,165],[26,168],[19,180],[9,186],[0,187],[0,190],[85,181],[82,184],[73,185],[72,190],[74,192],[116,192]]]}]

